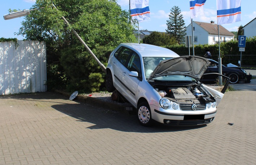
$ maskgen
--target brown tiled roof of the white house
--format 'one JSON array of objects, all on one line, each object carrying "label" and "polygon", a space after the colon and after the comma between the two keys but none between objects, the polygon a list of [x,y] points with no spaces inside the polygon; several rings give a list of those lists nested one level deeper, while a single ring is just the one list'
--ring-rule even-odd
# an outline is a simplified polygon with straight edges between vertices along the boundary
[{"label": "brown tiled roof of the white house", "polygon": [[[218,25],[213,23],[206,23],[206,22],[197,22],[194,23],[198,24],[204,30],[206,30],[210,34],[218,34]],[[225,36],[235,36],[233,33],[229,32],[229,30],[225,29],[223,26],[219,25],[220,28],[220,35]]]}]

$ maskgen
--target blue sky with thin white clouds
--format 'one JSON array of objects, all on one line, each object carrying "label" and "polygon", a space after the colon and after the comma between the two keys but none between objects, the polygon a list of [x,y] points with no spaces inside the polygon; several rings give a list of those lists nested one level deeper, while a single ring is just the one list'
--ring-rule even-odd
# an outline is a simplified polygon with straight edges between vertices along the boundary
[{"label": "blue sky with thin white clouds", "polygon": [[[30,9],[35,4],[35,0],[0,0],[0,38],[18,38],[19,40],[25,37],[14,35],[19,31],[23,17],[10,20],[4,20],[3,16],[9,13],[9,9]],[[129,0],[117,0],[123,10],[129,10]],[[242,0],[242,21],[231,24],[222,24],[229,31],[237,31],[240,25],[246,25],[251,20],[256,18],[256,8],[253,0]],[[169,19],[170,10],[173,6],[178,6],[181,9],[181,14],[185,21],[185,26],[191,23],[189,0],[149,0],[150,19],[141,22],[140,30],[150,30],[165,32],[167,29],[167,20]],[[214,21],[217,24],[216,0],[206,0],[204,5],[204,15],[199,15],[193,19],[198,22]]]}]

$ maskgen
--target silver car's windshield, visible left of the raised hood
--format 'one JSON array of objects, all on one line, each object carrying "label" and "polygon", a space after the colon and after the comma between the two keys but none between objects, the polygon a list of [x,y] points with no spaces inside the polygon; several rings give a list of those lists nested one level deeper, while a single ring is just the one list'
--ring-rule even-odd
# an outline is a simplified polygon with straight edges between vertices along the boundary
[{"label": "silver car's windshield, visible left of the raised hood", "polygon": [[156,66],[164,60],[170,60],[173,57],[144,57],[144,70],[146,79],[149,78],[150,74],[155,70]]}]

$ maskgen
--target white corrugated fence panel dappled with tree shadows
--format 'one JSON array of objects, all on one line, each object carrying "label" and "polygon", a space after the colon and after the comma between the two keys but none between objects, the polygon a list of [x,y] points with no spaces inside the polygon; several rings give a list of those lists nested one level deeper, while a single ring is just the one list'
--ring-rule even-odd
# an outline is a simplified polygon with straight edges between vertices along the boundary
[{"label": "white corrugated fence panel dappled with tree shadows", "polygon": [[46,81],[44,42],[0,42],[0,95],[44,92]]}]

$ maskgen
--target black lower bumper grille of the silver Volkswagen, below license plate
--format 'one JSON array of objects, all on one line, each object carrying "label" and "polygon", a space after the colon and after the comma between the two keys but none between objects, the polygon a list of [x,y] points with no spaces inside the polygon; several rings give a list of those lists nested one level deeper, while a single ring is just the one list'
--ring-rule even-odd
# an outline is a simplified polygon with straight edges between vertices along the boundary
[{"label": "black lower bumper grille of the silver Volkswagen, below license plate", "polygon": [[164,123],[166,121],[170,121],[168,125],[179,125],[179,126],[194,126],[194,125],[202,125],[202,124],[208,124],[213,121],[214,118],[209,118],[209,119],[202,119],[202,120],[167,120],[164,119]]}]

